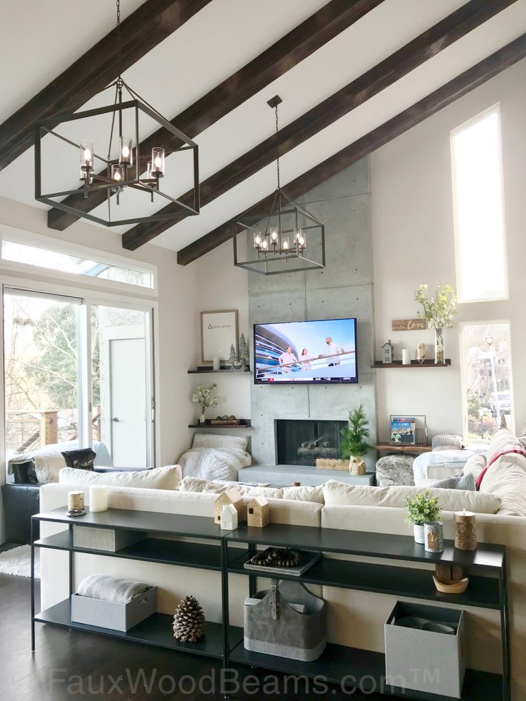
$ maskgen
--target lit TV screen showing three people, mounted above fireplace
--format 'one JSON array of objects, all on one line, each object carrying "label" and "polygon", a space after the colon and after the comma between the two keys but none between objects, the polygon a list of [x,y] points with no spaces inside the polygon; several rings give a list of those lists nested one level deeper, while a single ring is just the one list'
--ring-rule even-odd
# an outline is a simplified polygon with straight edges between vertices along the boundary
[{"label": "lit TV screen showing three people, mounted above fireplace", "polygon": [[356,319],[254,325],[257,384],[356,383]]}]

